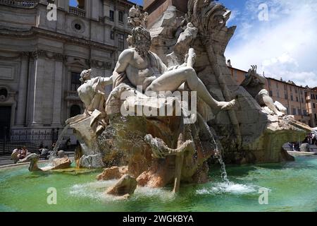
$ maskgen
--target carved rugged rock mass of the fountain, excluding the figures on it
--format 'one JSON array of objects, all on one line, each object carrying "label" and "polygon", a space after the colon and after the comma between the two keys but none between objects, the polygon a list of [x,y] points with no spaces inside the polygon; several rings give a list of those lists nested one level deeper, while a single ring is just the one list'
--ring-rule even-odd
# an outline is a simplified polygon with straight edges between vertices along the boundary
[{"label": "carved rugged rock mass of the fountain, excluding the figures on it", "polygon": [[[230,11],[211,0],[189,0],[188,8],[183,17],[169,8],[155,23],[155,28],[150,29],[151,50],[172,67],[180,66],[185,61],[184,54],[190,48],[195,49],[194,71],[209,93],[218,101],[235,98],[238,106],[228,112],[217,112],[198,99],[197,121],[185,124],[185,112],[175,116],[176,107],[168,105],[168,97],[152,102],[133,88],[125,76],[119,75],[105,103],[108,126],[100,135],[91,129],[92,116],[70,120],[85,154],[79,160],[81,167],[108,167],[97,179],[117,179],[123,173],[128,174],[108,194],[132,194],[137,184],[150,187],[174,184],[174,191],[178,191],[180,182],[207,182],[207,161],[220,154],[225,162],[234,164],[292,160],[282,145],[304,138],[310,129],[291,117],[266,112],[247,90],[232,80],[224,57],[235,31],[235,27],[225,26]],[[158,61],[156,64],[159,65]],[[128,98],[122,98],[123,93]],[[175,98],[173,104],[180,105],[178,101]],[[135,116],[140,108],[141,114]],[[152,112],[173,109],[173,116],[149,117],[144,108]],[[120,168],[123,166],[128,169]]]}]

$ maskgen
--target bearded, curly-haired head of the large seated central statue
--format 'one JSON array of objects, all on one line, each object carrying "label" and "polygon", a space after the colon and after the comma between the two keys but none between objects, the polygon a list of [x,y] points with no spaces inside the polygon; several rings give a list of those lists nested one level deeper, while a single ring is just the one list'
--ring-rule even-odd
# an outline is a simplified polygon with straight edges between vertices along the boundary
[{"label": "bearded, curly-haired head of the large seated central statue", "polygon": [[129,42],[131,42],[132,47],[142,56],[147,56],[149,49],[151,47],[151,35],[150,32],[143,27],[136,27],[132,30],[132,36]]}]

